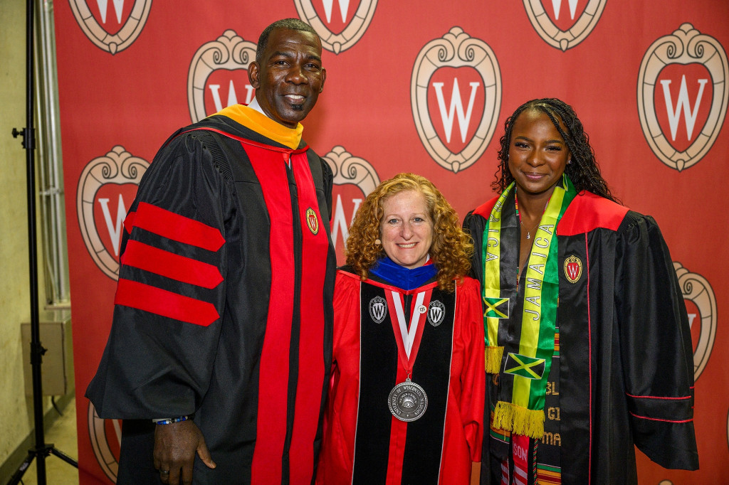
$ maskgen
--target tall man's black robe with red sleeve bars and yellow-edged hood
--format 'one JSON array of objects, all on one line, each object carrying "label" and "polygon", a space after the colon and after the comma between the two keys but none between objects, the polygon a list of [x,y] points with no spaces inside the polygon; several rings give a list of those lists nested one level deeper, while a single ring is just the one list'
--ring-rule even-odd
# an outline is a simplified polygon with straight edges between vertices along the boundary
[{"label": "tall man's black robe with red sleeve bars and yellow-edged hood", "polygon": [[150,419],[193,413],[217,463],[195,457],[195,484],[311,483],[335,253],[332,173],[300,132],[233,106],[172,135],[144,174],[87,389],[100,417],[125,419],[117,483],[159,483]]}]

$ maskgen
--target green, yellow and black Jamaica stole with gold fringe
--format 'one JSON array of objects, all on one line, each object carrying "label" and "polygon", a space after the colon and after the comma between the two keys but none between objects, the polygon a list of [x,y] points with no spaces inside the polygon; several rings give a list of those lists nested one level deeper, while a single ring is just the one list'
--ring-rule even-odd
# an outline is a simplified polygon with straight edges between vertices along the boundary
[{"label": "green, yellow and black Jamaica stole with gold fringe", "polygon": [[[501,194],[483,232],[486,372],[499,374],[492,425],[541,438],[559,297],[556,228],[577,194],[566,174],[555,186],[518,277],[521,229],[514,184]],[[521,280],[521,282],[520,282]]]}]

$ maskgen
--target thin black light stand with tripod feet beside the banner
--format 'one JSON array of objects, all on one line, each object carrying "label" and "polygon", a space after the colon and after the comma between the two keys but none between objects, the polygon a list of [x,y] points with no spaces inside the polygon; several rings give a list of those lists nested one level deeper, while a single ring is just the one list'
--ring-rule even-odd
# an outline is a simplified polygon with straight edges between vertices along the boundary
[{"label": "thin black light stand with tripod feet beside the banner", "polygon": [[26,460],[20,465],[8,482],[16,485],[23,478],[28,466],[34,458],[36,461],[36,475],[38,485],[46,485],[45,457],[49,454],[79,468],[76,460],[67,454],[55,449],[52,443],[45,443],[43,430],[43,385],[41,380],[41,366],[43,364],[44,349],[40,342],[40,320],[38,312],[38,256],[36,254],[36,168],[34,150],[36,137],[34,128],[34,73],[33,73],[33,22],[34,0],[26,0],[26,127],[18,131],[12,129],[12,136],[23,138],[23,148],[26,149],[26,178],[28,192],[28,271],[30,272],[31,290],[31,370],[33,375],[33,416],[35,423],[36,446],[28,450]]}]

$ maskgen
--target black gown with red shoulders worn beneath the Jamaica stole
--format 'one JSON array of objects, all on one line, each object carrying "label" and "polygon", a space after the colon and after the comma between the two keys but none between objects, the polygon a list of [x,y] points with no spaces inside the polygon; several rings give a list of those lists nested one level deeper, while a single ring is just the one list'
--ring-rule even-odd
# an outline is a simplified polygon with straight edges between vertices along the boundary
[{"label": "black gown with red shoulders worn beneath the Jamaica stole", "polygon": [[[495,202],[464,221],[475,240],[472,276],[482,281],[480,248]],[[506,220],[514,210],[513,195],[503,210]],[[536,476],[530,474],[528,483],[636,484],[634,445],[665,468],[698,468],[690,328],[658,225],[650,216],[581,192],[556,234],[555,352],[545,434],[536,457],[529,456]],[[521,318],[517,313],[504,321]],[[492,377],[486,379],[487,422],[498,393]],[[482,484],[502,483],[509,443],[510,433],[487,428]]]}]

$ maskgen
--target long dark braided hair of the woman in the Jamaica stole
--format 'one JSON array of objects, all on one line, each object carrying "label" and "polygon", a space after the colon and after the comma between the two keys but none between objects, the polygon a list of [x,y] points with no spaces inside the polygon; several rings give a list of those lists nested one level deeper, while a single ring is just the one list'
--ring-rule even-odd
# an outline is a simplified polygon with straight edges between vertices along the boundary
[{"label": "long dark braided hair of the woman in the Jamaica stole", "polygon": [[[572,106],[557,98],[541,98],[527,101],[519,106],[514,113],[507,118],[504,123],[504,135],[499,142],[499,167],[496,169],[496,180],[491,184],[491,188],[501,193],[504,189],[514,181],[509,170],[509,146],[511,144],[511,131],[514,122],[519,115],[526,110],[541,111],[546,114],[557,128],[560,135],[564,139],[569,151],[572,153],[572,163],[568,164],[564,171],[577,192],[587,190],[593,194],[597,194],[613,202],[620,203],[610,192],[607,182],[600,174],[600,167],[595,159],[595,151],[590,146],[590,138],[582,129],[582,122],[577,118]],[[560,121],[567,128],[565,132]]]}]

